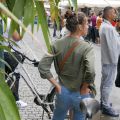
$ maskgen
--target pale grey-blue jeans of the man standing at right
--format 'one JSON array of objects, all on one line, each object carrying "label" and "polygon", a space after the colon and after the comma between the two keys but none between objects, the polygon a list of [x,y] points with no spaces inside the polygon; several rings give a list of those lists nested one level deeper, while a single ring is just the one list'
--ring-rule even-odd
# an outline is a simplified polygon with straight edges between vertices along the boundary
[{"label": "pale grey-blue jeans of the man standing at right", "polygon": [[100,86],[101,103],[106,108],[110,106],[109,96],[112,90],[113,83],[115,82],[117,65],[104,64],[102,65],[102,81]]}]

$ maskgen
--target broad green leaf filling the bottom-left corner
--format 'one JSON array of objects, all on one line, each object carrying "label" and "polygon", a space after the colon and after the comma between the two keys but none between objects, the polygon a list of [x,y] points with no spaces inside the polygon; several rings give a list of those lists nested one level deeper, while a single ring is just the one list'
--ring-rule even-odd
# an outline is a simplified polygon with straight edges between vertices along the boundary
[{"label": "broad green leaf filling the bottom-left corner", "polygon": [[20,120],[18,108],[15,99],[8,85],[0,73],[0,111],[2,111],[1,120]]}]

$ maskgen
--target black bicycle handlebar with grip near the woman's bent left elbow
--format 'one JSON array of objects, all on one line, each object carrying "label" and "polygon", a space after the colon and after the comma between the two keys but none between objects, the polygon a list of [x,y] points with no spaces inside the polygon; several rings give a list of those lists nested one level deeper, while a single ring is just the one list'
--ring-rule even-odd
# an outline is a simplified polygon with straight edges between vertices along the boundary
[{"label": "black bicycle handlebar with grip near the woman's bent left elbow", "polygon": [[37,61],[37,60],[35,60],[35,59],[34,59],[34,60],[30,59],[29,57],[27,57],[27,56],[24,55],[23,53],[21,53],[21,52],[19,52],[18,50],[14,49],[14,48],[12,47],[12,45],[10,45],[10,44],[9,44],[9,47],[10,47],[12,50],[14,50],[16,53],[18,53],[19,55],[22,56],[22,62],[23,62],[25,59],[27,59],[27,60],[29,60],[30,62],[32,62],[32,64],[34,64],[35,67],[38,67],[39,61]]}]

